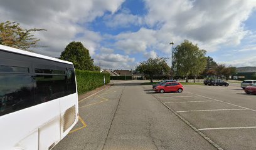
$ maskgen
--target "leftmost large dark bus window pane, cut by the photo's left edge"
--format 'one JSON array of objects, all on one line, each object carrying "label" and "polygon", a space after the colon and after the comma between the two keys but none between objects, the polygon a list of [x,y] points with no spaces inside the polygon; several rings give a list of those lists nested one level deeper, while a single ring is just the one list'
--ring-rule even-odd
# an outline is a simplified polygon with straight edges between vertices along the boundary
[{"label": "leftmost large dark bus window pane, cut by the photo's left edge", "polygon": [[35,105],[31,76],[0,74],[0,116]]}]

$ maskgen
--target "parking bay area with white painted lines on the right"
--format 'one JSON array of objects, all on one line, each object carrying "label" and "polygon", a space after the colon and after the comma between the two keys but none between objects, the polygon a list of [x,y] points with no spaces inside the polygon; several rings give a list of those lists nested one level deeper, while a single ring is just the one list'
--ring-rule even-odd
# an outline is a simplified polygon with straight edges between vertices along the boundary
[{"label": "parking bay area with white painted lines on the right", "polygon": [[183,93],[151,94],[221,148],[256,149],[256,96],[239,86],[184,86]]}]

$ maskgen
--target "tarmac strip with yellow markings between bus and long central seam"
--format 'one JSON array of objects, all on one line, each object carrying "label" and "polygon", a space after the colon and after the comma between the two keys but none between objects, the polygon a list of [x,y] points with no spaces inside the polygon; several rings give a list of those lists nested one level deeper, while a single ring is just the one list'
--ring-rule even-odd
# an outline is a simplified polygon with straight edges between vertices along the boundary
[{"label": "tarmac strip with yellow markings between bus and long central seam", "polygon": [[79,101],[79,121],[57,149],[102,149],[124,86],[111,86]]}]

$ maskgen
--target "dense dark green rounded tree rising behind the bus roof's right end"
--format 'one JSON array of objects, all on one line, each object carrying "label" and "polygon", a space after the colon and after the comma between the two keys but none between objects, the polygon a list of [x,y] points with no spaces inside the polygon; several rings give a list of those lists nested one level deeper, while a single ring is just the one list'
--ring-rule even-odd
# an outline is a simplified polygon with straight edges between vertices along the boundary
[{"label": "dense dark green rounded tree rising behind the bus roof's right end", "polygon": [[75,69],[94,71],[93,59],[90,57],[88,49],[81,42],[70,42],[60,55],[60,59],[71,61]]}]

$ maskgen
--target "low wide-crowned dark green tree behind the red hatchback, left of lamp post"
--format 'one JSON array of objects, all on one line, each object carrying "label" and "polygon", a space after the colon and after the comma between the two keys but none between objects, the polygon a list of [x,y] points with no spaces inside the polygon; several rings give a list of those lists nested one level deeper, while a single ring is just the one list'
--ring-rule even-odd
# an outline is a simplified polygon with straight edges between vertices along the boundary
[{"label": "low wide-crowned dark green tree behind the red hatchback, left of lamp post", "polygon": [[170,67],[166,63],[166,58],[149,58],[147,61],[143,61],[136,66],[136,71],[140,73],[148,74],[151,83],[153,82],[153,76],[163,73],[168,73]]}]

